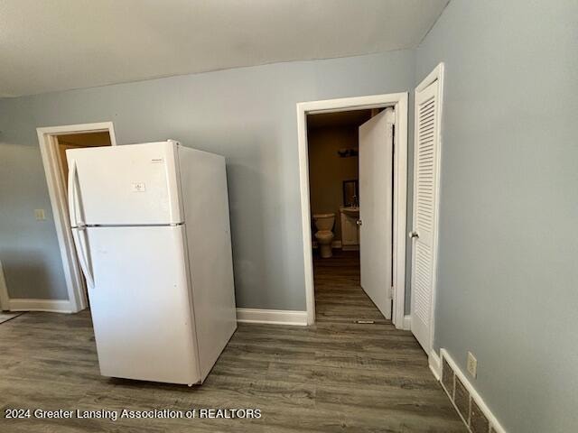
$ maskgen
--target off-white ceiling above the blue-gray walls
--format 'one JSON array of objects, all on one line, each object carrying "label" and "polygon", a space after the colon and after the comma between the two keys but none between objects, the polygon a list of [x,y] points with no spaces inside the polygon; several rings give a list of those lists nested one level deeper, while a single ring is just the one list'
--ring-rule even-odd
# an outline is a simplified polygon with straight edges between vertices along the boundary
[{"label": "off-white ceiling above the blue-gray walls", "polygon": [[449,0],[0,0],[0,97],[414,48]]}]

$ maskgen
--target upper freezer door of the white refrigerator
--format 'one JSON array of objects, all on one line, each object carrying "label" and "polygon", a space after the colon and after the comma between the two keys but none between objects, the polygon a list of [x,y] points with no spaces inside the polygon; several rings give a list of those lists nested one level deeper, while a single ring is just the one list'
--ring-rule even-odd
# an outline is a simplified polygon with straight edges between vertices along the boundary
[{"label": "upper freezer door of the white refrigerator", "polygon": [[171,141],[67,151],[72,226],[182,223],[175,153]]}]

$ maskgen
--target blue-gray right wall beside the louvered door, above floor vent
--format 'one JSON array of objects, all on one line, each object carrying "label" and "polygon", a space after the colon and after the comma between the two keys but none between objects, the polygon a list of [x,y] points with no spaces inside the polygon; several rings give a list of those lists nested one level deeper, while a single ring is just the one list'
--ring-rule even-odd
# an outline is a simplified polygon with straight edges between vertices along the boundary
[{"label": "blue-gray right wall beside the louvered door, above floor vent", "polygon": [[509,432],[578,431],[578,2],[453,0],[416,54],[445,62],[435,347]]}]

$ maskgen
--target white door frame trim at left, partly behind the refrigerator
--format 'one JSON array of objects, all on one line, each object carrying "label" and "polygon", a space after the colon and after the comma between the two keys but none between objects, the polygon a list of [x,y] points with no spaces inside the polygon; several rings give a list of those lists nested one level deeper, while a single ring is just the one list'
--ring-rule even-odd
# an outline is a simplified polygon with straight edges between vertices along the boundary
[{"label": "white door frame trim at left, partly behind the refrigerator", "polygon": [[57,155],[57,135],[102,133],[108,132],[110,144],[117,145],[115,128],[112,122],[96,124],[68,124],[36,128],[38,143],[42,154],[42,165],[46,174],[46,184],[51,198],[52,216],[56,227],[56,236],[61,250],[62,269],[69,295],[70,311],[73,313],[86,309],[88,306],[87,293],[84,289],[82,273],[76,257],[74,241],[70,232],[70,218],[68,198],[62,180],[59,158]]}]

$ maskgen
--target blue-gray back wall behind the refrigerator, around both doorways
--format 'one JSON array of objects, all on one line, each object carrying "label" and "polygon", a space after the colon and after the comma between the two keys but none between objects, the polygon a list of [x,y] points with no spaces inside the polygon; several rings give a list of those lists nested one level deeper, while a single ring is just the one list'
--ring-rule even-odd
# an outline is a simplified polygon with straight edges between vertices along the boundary
[{"label": "blue-gray back wall behind the refrigerator, around both doorways", "polygon": [[[225,155],[238,307],[305,309],[295,104],[406,91],[414,72],[413,51],[392,51],[0,100],[11,295],[66,297],[36,127],[111,120],[117,143],[173,138]],[[47,221],[33,221],[38,207]]]}]

